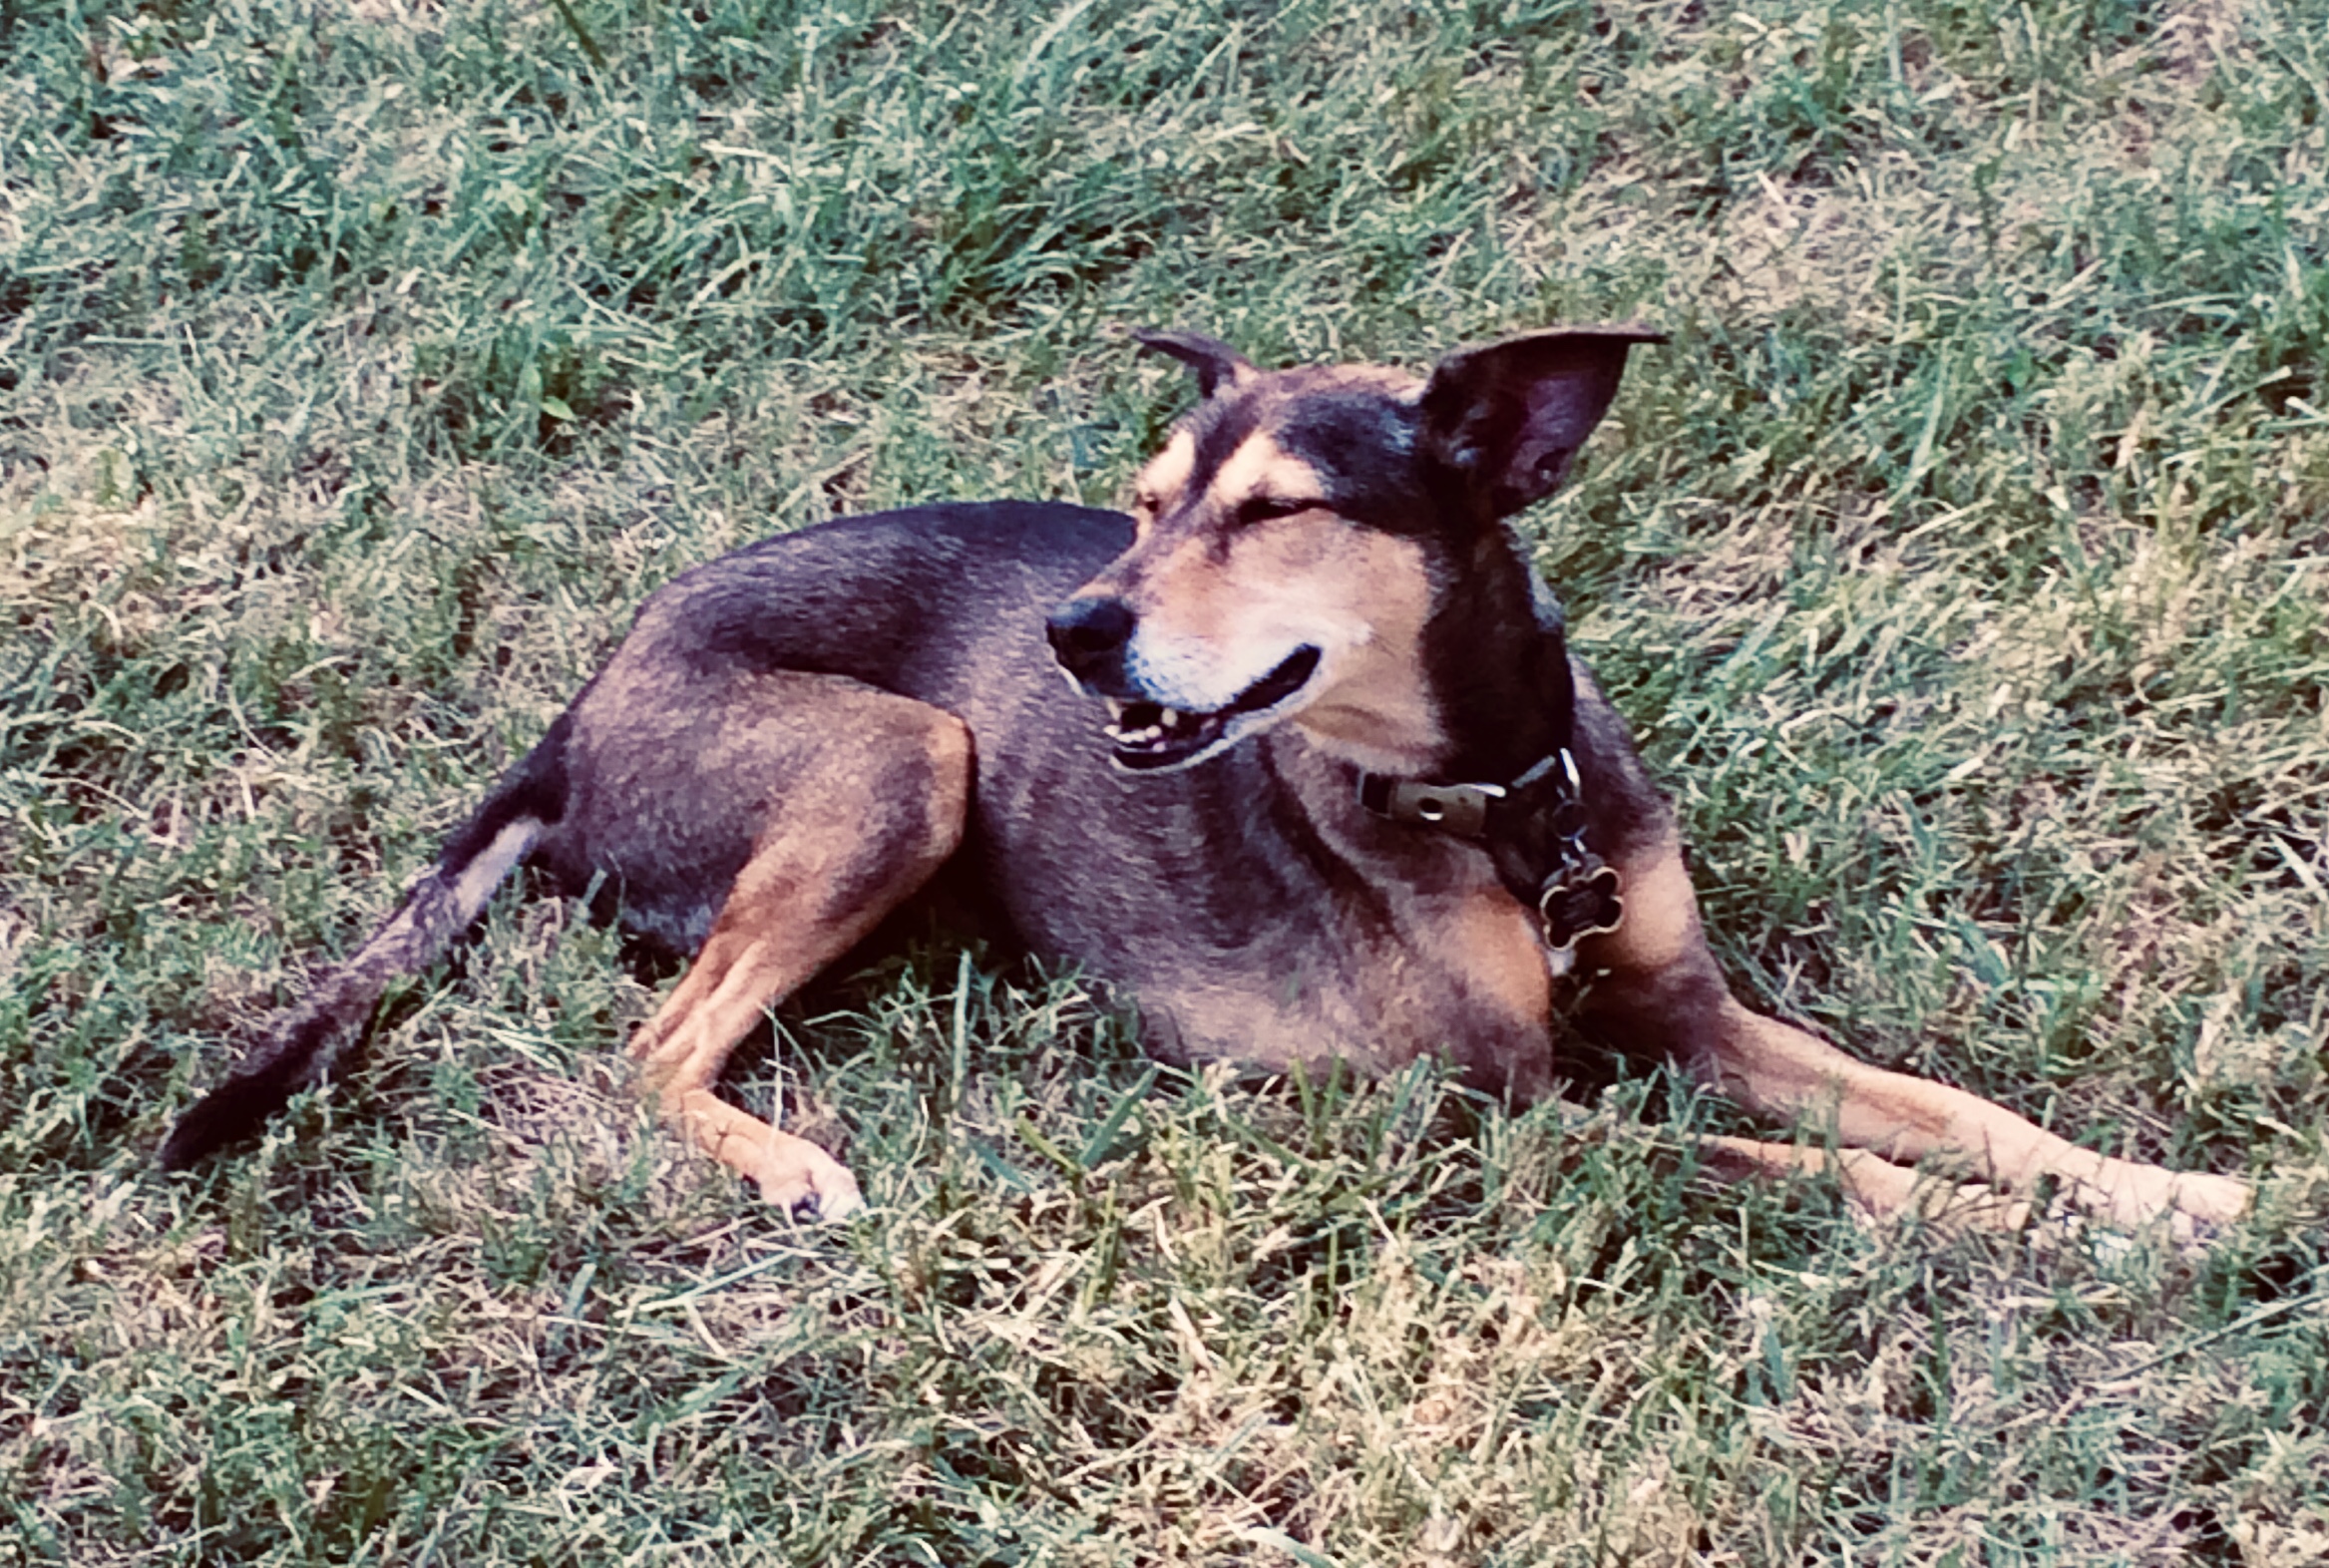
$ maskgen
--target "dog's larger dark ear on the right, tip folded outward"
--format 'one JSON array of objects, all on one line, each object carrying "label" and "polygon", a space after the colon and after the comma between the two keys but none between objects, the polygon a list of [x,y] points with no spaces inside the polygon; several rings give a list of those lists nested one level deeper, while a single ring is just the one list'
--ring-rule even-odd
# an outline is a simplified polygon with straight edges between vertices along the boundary
[{"label": "dog's larger dark ear on the right, tip folded outward", "polygon": [[1456,349],[1423,387],[1423,450],[1491,517],[1542,501],[1609,410],[1647,326],[1574,326]]}]

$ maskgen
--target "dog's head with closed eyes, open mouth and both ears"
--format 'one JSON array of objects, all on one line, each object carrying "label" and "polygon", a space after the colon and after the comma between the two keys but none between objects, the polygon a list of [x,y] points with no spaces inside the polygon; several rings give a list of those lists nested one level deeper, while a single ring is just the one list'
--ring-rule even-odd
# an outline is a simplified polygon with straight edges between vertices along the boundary
[{"label": "dog's head with closed eyes, open mouth and both ears", "polygon": [[1528,333],[1416,380],[1141,333],[1202,396],[1134,482],[1132,548],[1050,615],[1069,678],[1109,701],[1116,764],[1190,767],[1288,720],[1362,767],[1430,757],[1421,648],[1451,573],[1560,485],[1626,349],[1658,340]]}]

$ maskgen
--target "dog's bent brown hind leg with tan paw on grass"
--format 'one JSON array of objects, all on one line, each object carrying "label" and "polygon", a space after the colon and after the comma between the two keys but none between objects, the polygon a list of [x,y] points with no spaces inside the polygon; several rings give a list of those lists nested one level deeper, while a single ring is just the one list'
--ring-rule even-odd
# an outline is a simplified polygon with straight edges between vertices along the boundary
[{"label": "dog's bent brown hind leg with tan paw on grass", "polygon": [[[640,1088],[706,1153],[759,1181],[771,1202],[838,1219],[857,1181],[808,1139],[717,1097],[729,1053],[764,1011],[864,939],[962,843],[971,797],[971,734],[939,708],[838,676],[776,673],[729,694],[729,713],[692,711],[685,753],[706,811],[752,815],[757,834],[694,965],[631,1039]],[[664,767],[608,757],[589,713],[578,746],[596,767],[659,778]],[[703,746],[703,734],[717,734]],[[617,732],[615,750],[657,736]],[[680,753],[673,753],[680,755]],[[717,778],[710,778],[720,774]]]}]

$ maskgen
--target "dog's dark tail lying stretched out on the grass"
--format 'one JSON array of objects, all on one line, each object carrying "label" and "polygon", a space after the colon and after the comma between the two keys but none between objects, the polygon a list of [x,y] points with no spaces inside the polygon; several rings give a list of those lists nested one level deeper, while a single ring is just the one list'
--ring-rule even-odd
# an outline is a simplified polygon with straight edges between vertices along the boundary
[{"label": "dog's dark tail lying stretched out on the grass", "polygon": [[333,969],[214,1090],[179,1116],[156,1160],[186,1170],[249,1137],[291,1095],[333,1074],[391,983],[433,965],[484,911],[494,888],[566,811],[566,720],[503,778],[354,958]]}]

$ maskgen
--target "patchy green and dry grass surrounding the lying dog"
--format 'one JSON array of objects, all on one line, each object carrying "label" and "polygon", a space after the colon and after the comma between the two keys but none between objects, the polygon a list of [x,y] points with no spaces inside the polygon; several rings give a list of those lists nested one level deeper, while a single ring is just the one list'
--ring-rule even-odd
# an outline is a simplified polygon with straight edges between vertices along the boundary
[{"label": "patchy green and dry grass surrounding the lying dog", "polygon": [[[2317,0],[0,0],[0,1563],[2317,1561],[2324,235]],[[2213,1253],[943,951],[787,1016],[878,1205],[799,1230],[522,899],[149,1172],[680,566],[1113,499],[1125,326],[1616,317],[1530,527],[1726,965],[2259,1177]]]}]

